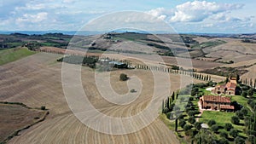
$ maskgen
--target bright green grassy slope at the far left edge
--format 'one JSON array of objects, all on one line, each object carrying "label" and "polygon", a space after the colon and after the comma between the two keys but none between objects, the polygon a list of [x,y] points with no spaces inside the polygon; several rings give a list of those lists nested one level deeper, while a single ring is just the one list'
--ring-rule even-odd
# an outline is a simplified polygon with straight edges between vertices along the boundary
[{"label": "bright green grassy slope at the far left edge", "polygon": [[0,50],[0,66],[6,63],[19,60],[28,55],[33,55],[36,52],[26,48],[4,49]]}]

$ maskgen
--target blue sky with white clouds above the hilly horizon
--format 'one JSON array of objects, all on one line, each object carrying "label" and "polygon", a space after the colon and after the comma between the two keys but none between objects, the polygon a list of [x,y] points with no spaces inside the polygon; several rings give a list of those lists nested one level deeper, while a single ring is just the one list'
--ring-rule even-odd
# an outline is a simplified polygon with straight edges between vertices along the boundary
[{"label": "blue sky with white clouds above the hilly horizon", "polygon": [[0,31],[78,31],[102,15],[137,11],[176,32],[253,33],[255,7],[255,0],[0,0]]}]

